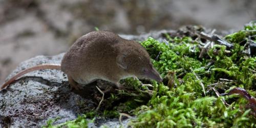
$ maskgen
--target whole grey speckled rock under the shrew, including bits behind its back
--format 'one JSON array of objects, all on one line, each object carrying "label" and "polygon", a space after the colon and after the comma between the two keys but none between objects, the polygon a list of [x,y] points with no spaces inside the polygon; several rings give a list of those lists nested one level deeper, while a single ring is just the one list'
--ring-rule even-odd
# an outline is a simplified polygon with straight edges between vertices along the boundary
[{"label": "whole grey speckled rock under the shrew, including bits behind its back", "polygon": [[[173,31],[158,31],[140,36],[121,35],[126,39],[145,40],[154,37],[163,41],[162,33]],[[11,78],[17,72],[40,65],[41,63],[60,63],[64,53],[56,56],[36,56],[26,60],[8,76]],[[66,74],[59,70],[38,70],[30,72],[16,80],[8,89],[0,92],[0,124],[2,127],[40,127],[49,119],[59,117],[54,124],[74,120],[82,114],[84,108],[94,109],[97,102],[92,96],[98,92],[90,84],[82,92],[71,91]],[[97,83],[98,84],[98,83]],[[100,93],[99,93],[100,94]],[[86,107],[85,107],[86,106]],[[90,127],[119,125],[118,119],[105,119],[90,123]],[[127,126],[127,120],[123,126]]]}]

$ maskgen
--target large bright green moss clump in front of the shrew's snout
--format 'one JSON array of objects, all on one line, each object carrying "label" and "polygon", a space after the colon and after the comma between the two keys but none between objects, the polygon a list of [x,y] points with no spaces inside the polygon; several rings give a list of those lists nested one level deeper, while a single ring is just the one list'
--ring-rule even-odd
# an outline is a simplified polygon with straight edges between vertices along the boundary
[{"label": "large bright green moss clump in front of the shrew's snout", "polygon": [[[246,26],[245,30],[256,30],[255,25]],[[154,93],[151,100],[140,108],[132,120],[134,127],[255,127],[253,110],[246,109],[247,101],[238,96],[217,97],[211,87],[212,83],[220,93],[228,92],[234,87],[246,89],[252,96],[256,94],[256,57],[243,51],[241,41],[255,36],[256,33],[239,31],[225,38],[234,48],[227,52],[225,46],[215,45],[208,57],[198,58],[199,43],[190,37],[168,37],[169,44],[148,38],[142,45],[150,53],[153,65],[165,76],[169,71],[176,71],[176,87],[168,88],[166,80],[162,84],[153,82]],[[158,57],[157,57],[158,56]],[[156,58],[157,57],[157,58]],[[213,62],[207,66],[208,62]],[[199,79],[196,78],[195,71]],[[229,82],[222,82],[228,79]],[[203,95],[203,83],[206,96]],[[224,99],[229,106],[226,106]]]}]

